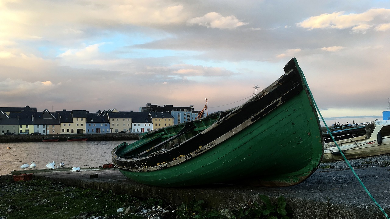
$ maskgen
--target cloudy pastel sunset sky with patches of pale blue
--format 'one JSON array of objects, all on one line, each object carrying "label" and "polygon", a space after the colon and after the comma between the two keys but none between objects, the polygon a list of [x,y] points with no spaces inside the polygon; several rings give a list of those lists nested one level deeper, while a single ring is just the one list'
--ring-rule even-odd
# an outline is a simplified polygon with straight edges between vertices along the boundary
[{"label": "cloudy pastel sunset sky with patches of pale blue", "polygon": [[202,110],[207,99],[212,113],[296,57],[328,125],[390,110],[385,0],[0,0],[0,21],[0,107]]}]

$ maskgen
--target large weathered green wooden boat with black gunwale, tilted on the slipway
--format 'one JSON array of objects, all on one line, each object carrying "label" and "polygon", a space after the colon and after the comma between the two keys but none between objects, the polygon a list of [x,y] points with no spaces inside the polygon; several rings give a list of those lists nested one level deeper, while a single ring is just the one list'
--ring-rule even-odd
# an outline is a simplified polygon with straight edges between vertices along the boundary
[{"label": "large weathered green wooden boat with black gunwale, tilted on the slipway", "polygon": [[142,184],[296,185],[323,156],[314,100],[295,58],[243,105],[156,129],[112,150],[113,164]]}]

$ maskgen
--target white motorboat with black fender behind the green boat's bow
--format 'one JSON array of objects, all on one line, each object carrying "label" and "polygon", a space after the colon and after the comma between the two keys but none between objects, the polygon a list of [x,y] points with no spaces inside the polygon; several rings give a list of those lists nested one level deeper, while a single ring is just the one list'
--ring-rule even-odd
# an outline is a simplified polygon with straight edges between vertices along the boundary
[{"label": "white motorboat with black fender behind the green boat's bow", "polygon": [[[390,153],[390,120],[375,120],[365,125],[365,135],[334,137],[340,150],[347,159],[371,157]],[[344,138],[342,138],[344,137]],[[332,139],[326,139],[324,144],[323,162],[344,159],[339,148]]]}]

